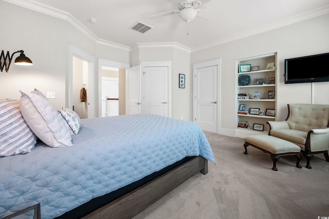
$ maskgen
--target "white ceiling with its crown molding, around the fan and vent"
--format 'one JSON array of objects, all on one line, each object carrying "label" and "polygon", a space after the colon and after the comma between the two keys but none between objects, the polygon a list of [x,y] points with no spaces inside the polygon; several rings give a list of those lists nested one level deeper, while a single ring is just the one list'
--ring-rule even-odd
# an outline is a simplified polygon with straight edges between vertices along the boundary
[{"label": "white ceiling with its crown molding, around the fan and vent", "polygon": [[[209,47],[329,13],[329,0],[200,0],[203,5],[199,8],[213,13],[199,12],[187,28],[178,14],[149,18],[176,10],[181,0],[4,1],[25,2],[27,8],[29,4],[51,7],[77,19],[96,38],[130,48],[138,43],[167,42],[189,49]],[[90,22],[90,18],[97,22]],[[131,30],[138,21],[153,29],[143,34]]]}]

